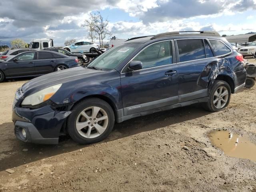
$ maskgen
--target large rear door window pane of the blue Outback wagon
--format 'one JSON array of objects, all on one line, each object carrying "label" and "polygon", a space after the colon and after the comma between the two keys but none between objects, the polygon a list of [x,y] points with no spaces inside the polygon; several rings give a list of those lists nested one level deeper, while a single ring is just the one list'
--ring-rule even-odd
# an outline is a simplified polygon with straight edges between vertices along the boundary
[{"label": "large rear door window pane of the blue Outback wagon", "polygon": [[202,39],[177,40],[180,62],[205,58]]}]

